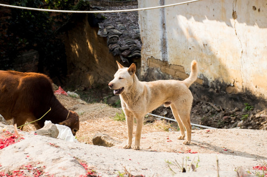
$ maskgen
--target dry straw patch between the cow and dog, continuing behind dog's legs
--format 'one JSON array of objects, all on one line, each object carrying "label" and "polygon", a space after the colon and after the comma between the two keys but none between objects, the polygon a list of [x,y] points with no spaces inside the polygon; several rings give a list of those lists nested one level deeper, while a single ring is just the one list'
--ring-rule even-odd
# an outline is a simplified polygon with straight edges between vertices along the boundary
[{"label": "dry straw patch between the cow and dog, continuing behind dog's legs", "polygon": [[[116,114],[122,113],[121,109],[103,103],[88,104],[65,95],[57,95],[57,98],[67,109],[74,110],[80,115],[80,129],[76,134],[79,142],[93,144],[92,139],[96,133],[107,134],[120,142],[127,140],[126,121],[113,119]],[[9,124],[12,122],[9,121]],[[134,125],[134,130],[135,128]],[[168,128],[171,126],[166,121],[157,120],[154,123],[144,124],[142,133],[166,131]],[[30,124],[26,125],[23,130],[35,131],[35,128]]]}]

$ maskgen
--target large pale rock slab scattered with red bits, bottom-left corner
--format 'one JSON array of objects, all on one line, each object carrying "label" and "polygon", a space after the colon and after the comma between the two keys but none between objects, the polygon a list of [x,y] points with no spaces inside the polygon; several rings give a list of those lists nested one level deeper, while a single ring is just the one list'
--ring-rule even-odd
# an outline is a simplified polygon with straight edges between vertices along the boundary
[{"label": "large pale rock slab scattered with red bits, bottom-left corner", "polygon": [[[24,140],[0,150],[0,171],[8,172],[28,165],[41,169],[44,176],[54,177],[79,177],[85,176],[84,167],[69,155],[69,149],[62,150],[65,145],[58,145],[61,141],[54,138],[23,134]],[[52,139],[52,140],[51,140]],[[26,170],[27,171],[27,170]],[[27,175],[33,177],[34,175]]]}]

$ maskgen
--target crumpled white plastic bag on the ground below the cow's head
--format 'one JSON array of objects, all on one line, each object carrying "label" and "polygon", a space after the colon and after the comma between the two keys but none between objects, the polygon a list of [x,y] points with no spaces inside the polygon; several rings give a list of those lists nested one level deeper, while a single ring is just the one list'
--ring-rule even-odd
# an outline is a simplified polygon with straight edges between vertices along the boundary
[{"label": "crumpled white plastic bag on the ground below the cow's head", "polygon": [[[44,124],[51,123],[50,120],[45,120]],[[72,132],[68,126],[55,124],[59,130],[59,135],[57,138],[61,140],[66,140],[69,142],[78,142],[75,137],[72,135]]]}]

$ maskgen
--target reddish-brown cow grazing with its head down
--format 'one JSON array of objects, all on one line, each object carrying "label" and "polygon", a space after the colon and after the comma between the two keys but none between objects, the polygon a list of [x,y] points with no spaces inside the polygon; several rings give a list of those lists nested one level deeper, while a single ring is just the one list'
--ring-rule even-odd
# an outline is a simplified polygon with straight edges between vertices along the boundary
[{"label": "reddish-brown cow grazing with its head down", "polygon": [[68,126],[72,134],[79,130],[79,116],[68,111],[56,98],[51,79],[39,73],[0,71],[0,114],[14,124],[23,125],[33,121],[36,129],[44,126],[45,120]]}]

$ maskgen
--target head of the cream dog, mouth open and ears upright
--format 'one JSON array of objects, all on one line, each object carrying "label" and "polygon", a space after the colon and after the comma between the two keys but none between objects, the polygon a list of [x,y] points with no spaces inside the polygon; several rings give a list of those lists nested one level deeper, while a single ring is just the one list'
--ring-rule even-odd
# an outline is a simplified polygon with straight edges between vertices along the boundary
[{"label": "head of the cream dog, mouth open and ears upright", "polygon": [[114,79],[108,84],[110,89],[113,89],[115,95],[123,93],[125,90],[133,85],[134,83],[134,74],[136,66],[133,63],[129,68],[123,67],[118,61],[118,71],[114,75]]}]

